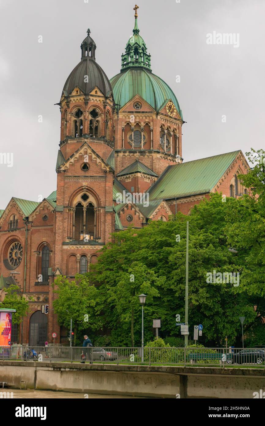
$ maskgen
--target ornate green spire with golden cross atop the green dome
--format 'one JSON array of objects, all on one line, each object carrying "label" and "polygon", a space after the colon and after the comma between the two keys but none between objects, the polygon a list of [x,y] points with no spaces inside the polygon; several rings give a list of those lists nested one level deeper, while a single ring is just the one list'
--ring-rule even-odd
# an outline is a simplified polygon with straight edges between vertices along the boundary
[{"label": "ornate green spire with golden cross atop the green dome", "polygon": [[125,47],[125,54],[122,55],[122,71],[127,68],[142,67],[151,71],[151,55],[147,53],[147,48],[143,38],[139,35],[138,28],[138,13],[137,9],[139,6],[137,4],[134,6],[134,29],[133,35],[129,38],[128,43]]}]

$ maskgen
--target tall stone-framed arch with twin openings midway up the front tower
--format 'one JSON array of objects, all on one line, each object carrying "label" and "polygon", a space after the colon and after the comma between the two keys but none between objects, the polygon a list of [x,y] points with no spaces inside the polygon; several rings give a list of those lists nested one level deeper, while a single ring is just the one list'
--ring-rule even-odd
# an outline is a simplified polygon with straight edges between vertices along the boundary
[{"label": "tall stone-framed arch with twin openings midway up the front tower", "polygon": [[74,241],[100,239],[101,203],[89,187],[76,190],[69,199],[68,239]]}]

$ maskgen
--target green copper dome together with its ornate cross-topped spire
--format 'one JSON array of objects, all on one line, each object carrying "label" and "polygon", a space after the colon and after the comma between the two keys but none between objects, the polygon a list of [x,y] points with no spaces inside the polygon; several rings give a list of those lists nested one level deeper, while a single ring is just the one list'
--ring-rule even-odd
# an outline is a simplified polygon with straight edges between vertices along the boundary
[{"label": "green copper dome together with its ornate cross-topped spire", "polygon": [[133,35],[126,44],[125,54],[122,55],[121,72],[110,80],[117,108],[122,108],[134,96],[140,95],[158,112],[166,101],[171,99],[182,118],[180,105],[174,92],[162,78],[151,71],[151,56],[147,54],[145,42],[139,35],[137,9],[138,6],[135,5]]}]

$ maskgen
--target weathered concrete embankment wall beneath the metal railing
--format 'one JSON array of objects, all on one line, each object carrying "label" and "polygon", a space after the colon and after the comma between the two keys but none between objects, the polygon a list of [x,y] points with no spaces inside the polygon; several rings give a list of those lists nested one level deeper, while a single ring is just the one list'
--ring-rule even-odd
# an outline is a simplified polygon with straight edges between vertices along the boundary
[{"label": "weathered concrete embankment wall beneath the metal railing", "polygon": [[176,398],[253,398],[265,368],[0,361],[9,388]]}]

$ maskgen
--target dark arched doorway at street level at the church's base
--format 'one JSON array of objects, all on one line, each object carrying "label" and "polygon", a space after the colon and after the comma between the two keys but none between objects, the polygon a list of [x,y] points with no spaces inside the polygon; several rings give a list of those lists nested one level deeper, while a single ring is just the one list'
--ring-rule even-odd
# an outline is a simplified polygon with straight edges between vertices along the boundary
[{"label": "dark arched doorway at street level at the church's base", "polygon": [[47,340],[47,315],[36,311],[29,320],[29,346],[44,346]]}]

